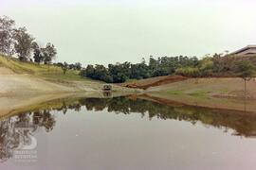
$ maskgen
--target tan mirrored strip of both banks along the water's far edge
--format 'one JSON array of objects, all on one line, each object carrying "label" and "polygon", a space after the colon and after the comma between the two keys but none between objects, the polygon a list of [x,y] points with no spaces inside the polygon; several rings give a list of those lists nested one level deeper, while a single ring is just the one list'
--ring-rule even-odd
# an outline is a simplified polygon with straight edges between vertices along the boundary
[{"label": "tan mirrored strip of both banks along the water's far edge", "polygon": [[[256,114],[256,101],[223,99],[223,98],[200,98],[184,95],[163,95],[162,93],[122,93],[114,92],[110,96],[102,92],[83,93],[33,93],[24,95],[0,96],[0,119],[9,117],[29,110],[39,110],[44,108],[60,107],[60,101],[73,102],[79,98],[112,98],[117,96],[127,96],[132,99],[145,99],[156,103],[174,107],[198,107],[213,110],[233,110],[239,114]],[[53,103],[51,102],[53,101]],[[59,103],[58,103],[59,102]]]}]

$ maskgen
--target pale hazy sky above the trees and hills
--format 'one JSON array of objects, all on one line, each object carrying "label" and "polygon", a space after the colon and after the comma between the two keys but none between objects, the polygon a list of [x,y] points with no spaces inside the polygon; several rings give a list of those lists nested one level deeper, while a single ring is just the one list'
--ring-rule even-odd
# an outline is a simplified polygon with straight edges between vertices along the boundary
[{"label": "pale hazy sky above the trees and hills", "polygon": [[55,44],[56,61],[104,64],[256,44],[255,0],[0,0],[0,16]]}]

